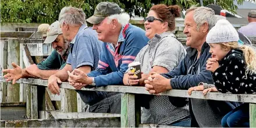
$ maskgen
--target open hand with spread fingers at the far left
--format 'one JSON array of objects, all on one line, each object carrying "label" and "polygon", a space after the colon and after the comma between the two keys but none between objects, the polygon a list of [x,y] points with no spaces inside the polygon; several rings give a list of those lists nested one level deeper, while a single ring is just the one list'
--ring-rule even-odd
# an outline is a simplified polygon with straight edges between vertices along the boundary
[{"label": "open hand with spread fingers at the far left", "polygon": [[22,78],[22,68],[20,68],[19,65],[16,65],[16,63],[12,62],[12,66],[13,69],[3,69],[3,73],[7,73],[5,74],[6,81],[10,81],[12,80],[12,84],[16,83],[16,80],[19,80],[20,78]]}]

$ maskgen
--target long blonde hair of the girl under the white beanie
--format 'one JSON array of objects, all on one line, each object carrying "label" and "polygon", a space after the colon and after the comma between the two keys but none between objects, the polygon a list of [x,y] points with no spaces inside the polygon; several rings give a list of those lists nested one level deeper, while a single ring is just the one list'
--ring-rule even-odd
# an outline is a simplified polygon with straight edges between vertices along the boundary
[{"label": "long blonde hair of the girl under the white beanie", "polygon": [[256,73],[256,49],[253,46],[239,45],[237,41],[221,43],[221,47],[229,47],[230,49],[240,49],[243,51],[246,61],[246,73]]}]

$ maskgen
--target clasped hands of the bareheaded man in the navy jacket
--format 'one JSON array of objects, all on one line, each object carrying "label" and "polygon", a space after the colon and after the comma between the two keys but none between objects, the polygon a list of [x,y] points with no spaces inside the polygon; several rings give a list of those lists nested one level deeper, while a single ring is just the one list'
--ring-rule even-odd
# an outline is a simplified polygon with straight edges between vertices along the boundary
[{"label": "clasped hands of the bareheaded man in the navy jacket", "polygon": [[150,77],[145,80],[145,87],[150,94],[158,94],[172,89],[170,79],[166,79],[161,74],[155,72],[151,72]]}]

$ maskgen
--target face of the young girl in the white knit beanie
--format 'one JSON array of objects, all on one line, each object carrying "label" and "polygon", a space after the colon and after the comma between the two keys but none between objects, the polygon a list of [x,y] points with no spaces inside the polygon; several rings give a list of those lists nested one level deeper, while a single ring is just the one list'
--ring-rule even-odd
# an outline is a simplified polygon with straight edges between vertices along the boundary
[{"label": "face of the young girl in the white knit beanie", "polygon": [[230,51],[230,48],[222,47],[221,44],[211,43],[209,44],[209,52],[212,54],[212,58],[217,58],[219,61],[223,59],[227,53]]}]

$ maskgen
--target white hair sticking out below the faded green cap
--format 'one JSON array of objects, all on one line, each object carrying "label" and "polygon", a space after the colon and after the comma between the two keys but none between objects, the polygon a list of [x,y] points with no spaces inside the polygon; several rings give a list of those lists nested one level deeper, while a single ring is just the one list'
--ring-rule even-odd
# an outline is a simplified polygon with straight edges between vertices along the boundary
[{"label": "white hair sticking out below the faded green cap", "polygon": [[111,23],[113,19],[117,19],[118,23],[120,23],[122,26],[125,26],[127,23],[129,23],[130,16],[127,13],[110,15],[108,16],[108,23]]}]

